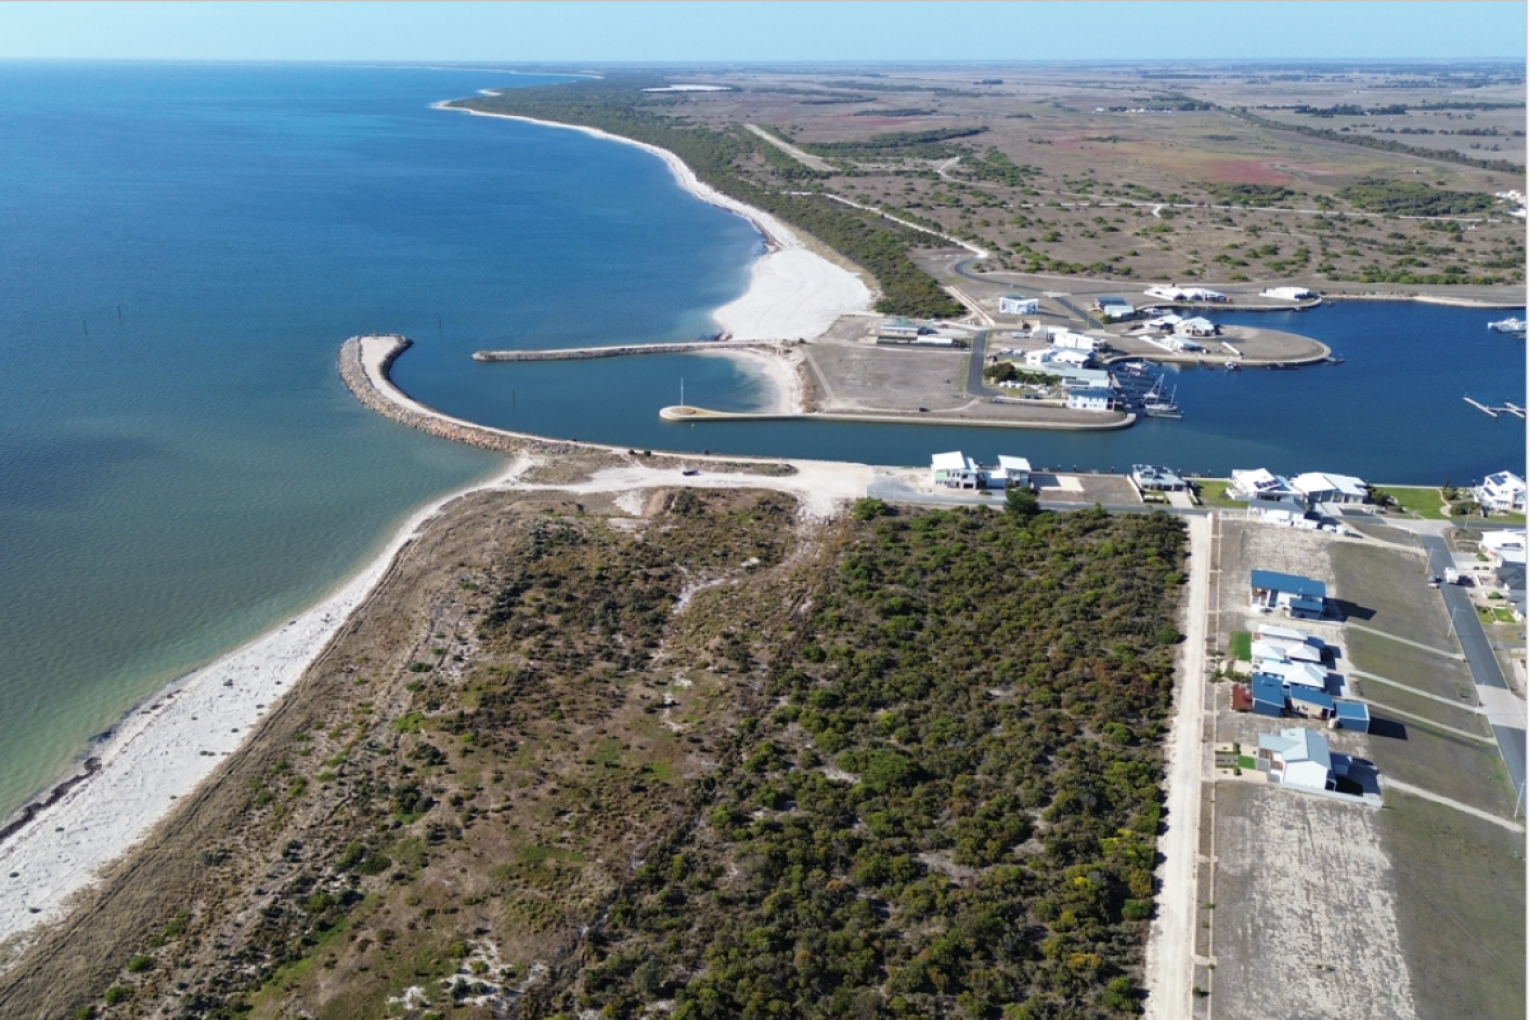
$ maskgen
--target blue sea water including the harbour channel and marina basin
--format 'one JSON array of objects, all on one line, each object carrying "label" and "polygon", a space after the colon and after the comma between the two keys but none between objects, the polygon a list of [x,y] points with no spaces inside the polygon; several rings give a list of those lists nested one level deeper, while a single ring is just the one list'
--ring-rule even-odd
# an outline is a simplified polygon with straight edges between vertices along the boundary
[{"label": "blue sea water including the harbour channel and marina basin", "polygon": [[1522,422],[1461,401],[1525,404],[1524,344],[1484,329],[1502,313],[1415,304],[1248,320],[1348,361],[1186,370],[1183,422],[1089,436],[664,425],[681,378],[713,407],[759,384],[713,358],[479,365],[482,347],[708,333],[760,252],[632,147],[430,109],[542,81],[0,63],[0,815],[499,463],[356,405],[334,365],[358,332],[413,336],[395,375],[442,410],[629,447],[1424,483],[1525,459]]}]

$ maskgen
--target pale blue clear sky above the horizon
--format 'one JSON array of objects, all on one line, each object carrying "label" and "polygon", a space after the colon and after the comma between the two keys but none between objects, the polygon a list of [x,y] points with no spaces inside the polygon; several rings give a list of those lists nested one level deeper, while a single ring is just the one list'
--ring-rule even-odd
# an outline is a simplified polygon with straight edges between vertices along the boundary
[{"label": "pale blue clear sky above the horizon", "polygon": [[0,3],[0,58],[1524,60],[1525,3]]}]

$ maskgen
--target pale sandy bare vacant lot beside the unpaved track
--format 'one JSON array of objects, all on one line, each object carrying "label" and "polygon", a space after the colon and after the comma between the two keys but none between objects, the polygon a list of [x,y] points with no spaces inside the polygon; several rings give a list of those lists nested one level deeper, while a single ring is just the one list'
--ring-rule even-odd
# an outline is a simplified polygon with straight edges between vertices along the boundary
[{"label": "pale sandy bare vacant lot beside the unpaved track", "polygon": [[1221,783],[1216,861],[1213,1015],[1418,1015],[1379,810]]}]

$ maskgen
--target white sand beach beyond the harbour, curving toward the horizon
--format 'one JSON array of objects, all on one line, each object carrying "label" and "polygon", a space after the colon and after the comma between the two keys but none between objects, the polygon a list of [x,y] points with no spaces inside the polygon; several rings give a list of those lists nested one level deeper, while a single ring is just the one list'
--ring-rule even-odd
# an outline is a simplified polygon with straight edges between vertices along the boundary
[{"label": "white sand beach beyond the harbour, curving toward the horizon", "polygon": [[581,124],[543,121],[517,113],[488,113],[448,102],[436,102],[433,109],[523,121],[633,145],[662,159],[679,187],[695,197],[753,223],[765,237],[767,251],[750,268],[748,289],[711,313],[721,330],[734,339],[815,339],[842,315],[866,312],[872,306],[875,295],[860,277],[809,251],[791,228],[770,213],[745,205],[705,184],[684,159],[667,148]]}]

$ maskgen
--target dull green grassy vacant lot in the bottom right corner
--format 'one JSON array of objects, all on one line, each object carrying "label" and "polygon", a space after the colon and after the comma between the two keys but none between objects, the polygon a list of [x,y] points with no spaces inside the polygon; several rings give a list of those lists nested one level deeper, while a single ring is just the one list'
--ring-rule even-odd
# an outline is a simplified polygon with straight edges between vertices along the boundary
[{"label": "dull green grassy vacant lot in the bottom right corner", "polygon": [[1380,832],[1418,1015],[1524,1017],[1524,836],[1397,792]]}]

